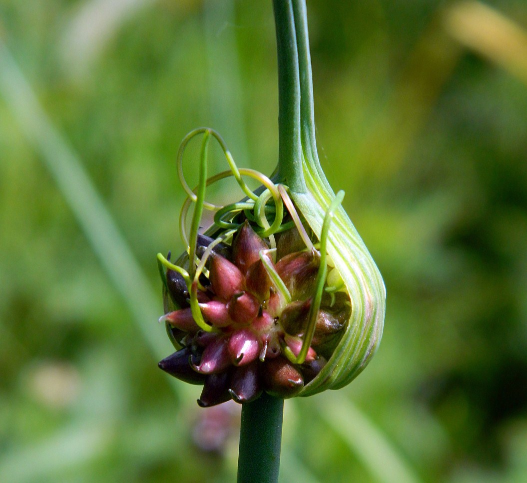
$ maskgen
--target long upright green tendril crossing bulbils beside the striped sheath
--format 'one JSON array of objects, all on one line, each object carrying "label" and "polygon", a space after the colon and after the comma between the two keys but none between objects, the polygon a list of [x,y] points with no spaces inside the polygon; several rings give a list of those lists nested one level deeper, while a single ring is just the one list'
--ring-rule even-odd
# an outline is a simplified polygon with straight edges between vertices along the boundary
[{"label": "long upright green tendril crossing bulbils beside the striped sheath", "polygon": [[307,352],[311,345],[311,341],[313,341],[313,335],[315,334],[315,326],[317,323],[317,315],[320,309],[320,302],[322,301],[324,283],[326,281],[327,275],[326,245],[329,226],[331,224],[331,220],[333,220],[333,217],[335,215],[335,210],[342,203],[343,199],[344,191],[340,190],[337,193],[335,199],[331,202],[331,205],[329,205],[329,208],[326,212],[326,216],[324,217],[324,223],[322,224],[322,231],[320,234],[320,265],[318,267],[317,278],[315,281],[317,288],[315,291],[315,296],[313,297],[313,302],[311,302],[311,307],[309,307],[308,322],[306,331],[304,333],[304,340],[302,341],[302,347],[300,349],[300,352],[298,353],[298,357],[296,358],[295,364],[304,363],[304,361],[306,360]]}]

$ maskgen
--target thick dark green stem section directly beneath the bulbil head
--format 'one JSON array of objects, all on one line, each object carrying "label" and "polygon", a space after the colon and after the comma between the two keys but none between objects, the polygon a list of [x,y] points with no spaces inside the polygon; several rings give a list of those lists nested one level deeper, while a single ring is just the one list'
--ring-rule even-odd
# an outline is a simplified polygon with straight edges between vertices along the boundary
[{"label": "thick dark green stem section directly beneath the bulbil head", "polygon": [[238,483],[276,483],[284,400],[263,393],[241,408]]}]

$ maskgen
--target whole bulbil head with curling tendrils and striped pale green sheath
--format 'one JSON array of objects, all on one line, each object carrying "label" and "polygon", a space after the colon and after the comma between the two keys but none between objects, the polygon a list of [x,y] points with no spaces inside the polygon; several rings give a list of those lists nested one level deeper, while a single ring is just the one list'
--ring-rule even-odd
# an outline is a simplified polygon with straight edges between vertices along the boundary
[{"label": "whole bulbil head with curling tendrils and striped pale green sheath", "polygon": [[[183,152],[202,136],[199,183],[183,177]],[[228,171],[207,178],[210,139]],[[338,389],[367,364],[380,341],[384,285],[373,260],[313,164],[302,179],[272,180],[239,169],[218,133],[200,128],[182,142],[178,173],[188,198],[180,227],[187,251],[174,263],[158,254],[165,314],[160,318],[176,352],[159,366],[203,384],[202,407]],[[205,200],[207,187],[235,177],[245,199],[226,206]],[[251,191],[244,177],[261,183]],[[300,187],[300,189],[299,189]],[[193,205],[190,229],[188,212]],[[203,210],[214,223],[199,234]]]}]

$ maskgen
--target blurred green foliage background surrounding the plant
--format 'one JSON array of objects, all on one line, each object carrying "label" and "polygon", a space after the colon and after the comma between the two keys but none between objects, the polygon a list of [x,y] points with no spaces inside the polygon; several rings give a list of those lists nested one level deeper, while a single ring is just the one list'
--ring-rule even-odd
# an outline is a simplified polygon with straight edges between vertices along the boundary
[{"label": "blurred green foliage background surrounding the plant", "polygon": [[[525,481],[527,7],[308,12],[321,160],[388,299],[341,427],[335,393],[286,403],[282,479]],[[184,134],[210,125],[240,166],[275,166],[271,2],[0,0],[1,43],[157,292],[155,254],[183,248]],[[232,481],[239,408],[199,409],[156,368],[168,340],[144,338],[2,85],[2,480]]]}]

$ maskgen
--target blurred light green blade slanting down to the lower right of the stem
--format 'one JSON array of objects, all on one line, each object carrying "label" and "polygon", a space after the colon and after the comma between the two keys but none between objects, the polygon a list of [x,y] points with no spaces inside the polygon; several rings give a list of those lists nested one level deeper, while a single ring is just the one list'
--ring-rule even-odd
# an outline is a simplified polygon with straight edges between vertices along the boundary
[{"label": "blurred light green blade slanting down to the lower right of the stem", "polygon": [[[324,395],[325,396],[325,395]],[[319,414],[381,483],[421,481],[383,434],[355,405],[336,392],[317,398]]]}]

